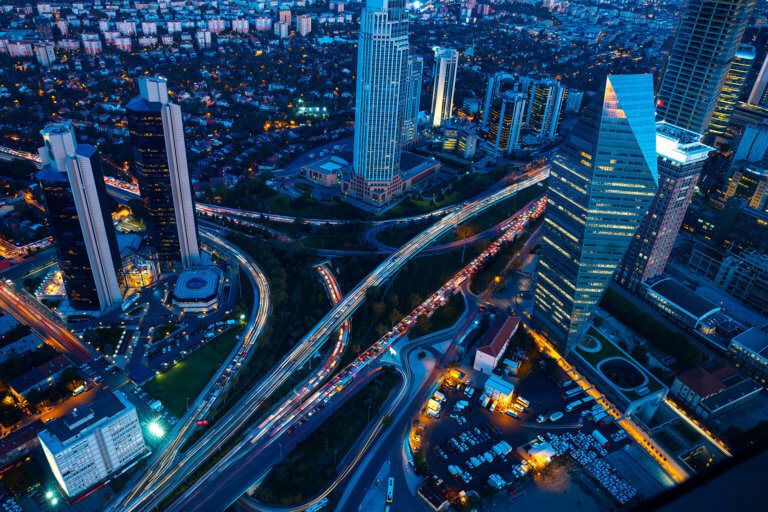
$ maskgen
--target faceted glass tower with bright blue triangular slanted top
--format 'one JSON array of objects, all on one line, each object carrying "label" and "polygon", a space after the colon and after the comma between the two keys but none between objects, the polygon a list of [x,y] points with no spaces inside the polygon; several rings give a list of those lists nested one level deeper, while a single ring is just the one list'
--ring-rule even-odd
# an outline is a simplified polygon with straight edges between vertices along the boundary
[{"label": "faceted glass tower with bright blue triangular slanted top", "polygon": [[564,351],[578,341],[656,194],[651,75],[611,75],[549,177],[534,317]]}]

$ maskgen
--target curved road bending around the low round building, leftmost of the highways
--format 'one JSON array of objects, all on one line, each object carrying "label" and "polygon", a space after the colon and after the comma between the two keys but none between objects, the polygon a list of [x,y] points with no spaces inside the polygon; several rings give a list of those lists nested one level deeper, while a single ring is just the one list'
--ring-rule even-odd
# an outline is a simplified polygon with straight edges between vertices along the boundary
[{"label": "curved road bending around the low round building, leftmost of the highways", "polygon": [[141,478],[117,497],[111,505],[111,510],[130,510],[134,504],[143,503],[148,497],[151,498],[151,489],[166,481],[169,470],[177,464],[183,464],[183,461],[178,460],[179,452],[196,431],[196,421],[207,419],[218,404],[219,398],[229,390],[240,368],[245,366],[253,355],[252,349],[257,345],[271,313],[269,283],[253,258],[215,233],[203,231],[201,235],[210,247],[221,252],[230,261],[237,261],[243,268],[256,292],[254,307],[239,343],[232,349],[225,364],[219,368],[184,417],[168,434],[170,442],[153,456]]}]

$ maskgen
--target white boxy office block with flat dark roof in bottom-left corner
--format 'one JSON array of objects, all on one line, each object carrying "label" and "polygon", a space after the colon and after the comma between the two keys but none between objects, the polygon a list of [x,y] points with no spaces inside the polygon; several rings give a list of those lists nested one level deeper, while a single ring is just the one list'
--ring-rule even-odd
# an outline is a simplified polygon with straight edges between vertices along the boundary
[{"label": "white boxy office block with flat dark roof in bottom-left corner", "polygon": [[91,403],[46,423],[38,439],[56,481],[70,498],[147,453],[136,407],[119,391],[100,392]]}]

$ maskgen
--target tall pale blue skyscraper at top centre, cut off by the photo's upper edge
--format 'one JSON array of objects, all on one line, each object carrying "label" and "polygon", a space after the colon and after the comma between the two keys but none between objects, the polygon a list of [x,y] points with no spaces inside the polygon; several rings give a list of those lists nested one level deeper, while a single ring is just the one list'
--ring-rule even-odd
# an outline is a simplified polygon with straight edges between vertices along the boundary
[{"label": "tall pale blue skyscraper at top centre, cut off by the photo's upper edge", "polygon": [[408,54],[405,1],[368,0],[360,18],[350,191],[374,204],[387,203],[403,190]]}]

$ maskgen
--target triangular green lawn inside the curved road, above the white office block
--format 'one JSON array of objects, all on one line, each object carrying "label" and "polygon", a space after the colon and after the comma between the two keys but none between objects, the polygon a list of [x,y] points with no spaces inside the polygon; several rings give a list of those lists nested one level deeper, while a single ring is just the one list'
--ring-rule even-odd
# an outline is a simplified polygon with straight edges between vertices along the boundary
[{"label": "triangular green lawn inside the curved road, above the white office block", "polygon": [[206,343],[165,373],[157,375],[144,389],[173,415],[181,416],[187,399],[195,400],[216,369],[232,351],[238,330],[229,330]]}]

